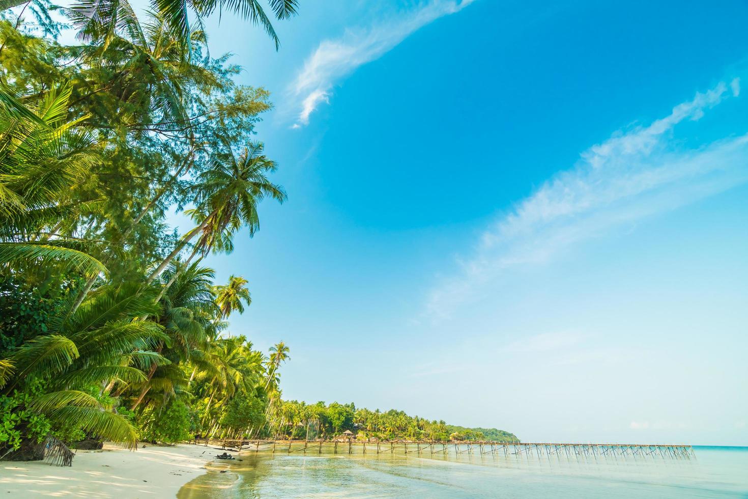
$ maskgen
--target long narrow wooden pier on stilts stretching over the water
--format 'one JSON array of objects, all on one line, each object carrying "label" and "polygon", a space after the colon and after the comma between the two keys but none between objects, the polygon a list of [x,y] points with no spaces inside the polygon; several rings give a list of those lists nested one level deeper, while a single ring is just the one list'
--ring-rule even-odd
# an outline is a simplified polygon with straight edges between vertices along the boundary
[{"label": "long narrow wooden pier on stilts stretching over the water", "polygon": [[401,454],[416,456],[503,456],[506,458],[566,459],[692,459],[690,445],[670,444],[557,444],[548,442],[437,442],[437,441],[304,441],[195,440],[255,453]]}]

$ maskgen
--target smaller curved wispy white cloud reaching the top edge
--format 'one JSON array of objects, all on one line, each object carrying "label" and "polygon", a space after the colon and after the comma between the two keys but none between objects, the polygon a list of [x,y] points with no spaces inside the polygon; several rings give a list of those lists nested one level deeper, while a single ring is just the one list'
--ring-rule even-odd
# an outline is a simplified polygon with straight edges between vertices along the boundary
[{"label": "smaller curved wispy white cloud reaching the top edge", "polygon": [[332,88],[362,64],[375,61],[408,35],[440,17],[457,13],[475,0],[431,0],[393,19],[381,20],[369,28],[349,29],[337,40],[325,40],[304,62],[289,88],[300,128],[322,102],[330,102]]}]

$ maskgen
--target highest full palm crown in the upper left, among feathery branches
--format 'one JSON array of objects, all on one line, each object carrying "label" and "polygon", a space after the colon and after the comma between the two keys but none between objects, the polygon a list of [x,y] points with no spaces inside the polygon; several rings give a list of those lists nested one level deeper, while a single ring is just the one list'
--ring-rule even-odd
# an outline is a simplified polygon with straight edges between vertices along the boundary
[{"label": "highest full palm crown in the upper left, among feathery branches", "polygon": [[159,14],[141,25],[126,10],[119,22],[122,27],[116,31],[93,31],[94,43],[72,49],[85,61],[85,70],[73,82],[79,91],[76,107],[94,114],[88,126],[106,130],[116,124],[128,131],[165,134],[188,129],[191,93],[222,85],[203,59],[189,57],[204,46],[206,35],[193,31],[191,43],[184,46]]}]

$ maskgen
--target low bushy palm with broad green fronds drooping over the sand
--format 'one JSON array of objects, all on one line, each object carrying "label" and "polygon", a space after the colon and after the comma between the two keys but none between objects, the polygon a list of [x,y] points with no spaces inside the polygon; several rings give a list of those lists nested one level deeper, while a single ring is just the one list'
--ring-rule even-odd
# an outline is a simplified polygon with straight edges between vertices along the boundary
[{"label": "low bushy palm with broad green fronds drooping over the sand", "polygon": [[108,286],[92,293],[75,313],[59,310],[50,322],[55,325],[51,331],[28,340],[5,359],[10,373],[5,370],[7,381],[0,388],[7,394],[42,379],[46,393],[31,401],[32,408],[53,423],[73,421],[99,438],[134,447],[138,436],[129,421],[87,390],[110,379],[142,382],[143,370],[168,364],[153,351],[167,339],[162,326],[133,320],[144,313],[159,313],[154,294],[155,290],[144,292],[137,284]]}]

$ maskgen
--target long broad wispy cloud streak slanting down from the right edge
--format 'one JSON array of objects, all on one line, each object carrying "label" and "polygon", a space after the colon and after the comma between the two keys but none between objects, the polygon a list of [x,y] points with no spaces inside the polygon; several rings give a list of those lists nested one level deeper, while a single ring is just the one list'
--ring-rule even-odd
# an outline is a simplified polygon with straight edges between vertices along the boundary
[{"label": "long broad wispy cloud streak slanting down from the right edge", "polygon": [[649,126],[619,132],[586,150],[512,212],[487,227],[459,272],[430,293],[432,318],[450,316],[483,284],[513,267],[544,263],[574,242],[674,209],[748,181],[748,135],[677,147],[673,129],[740,93],[722,82]]}]

